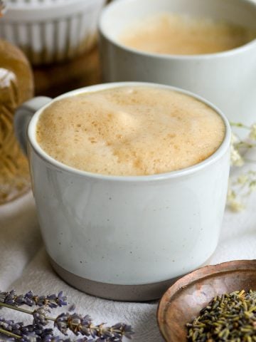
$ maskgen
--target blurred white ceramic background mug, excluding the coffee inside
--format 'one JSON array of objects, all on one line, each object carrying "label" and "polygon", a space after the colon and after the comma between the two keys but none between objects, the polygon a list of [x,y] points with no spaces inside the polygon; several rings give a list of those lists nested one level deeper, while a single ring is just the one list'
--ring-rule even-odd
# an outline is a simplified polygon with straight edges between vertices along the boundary
[{"label": "blurred white ceramic background mug, excluding the coffee inside", "polygon": [[146,81],[168,84],[203,96],[229,120],[250,125],[256,118],[256,39],[220,53],[194,56],[138,51],[119,42],[134,22],[158,12],[206,16],[256,31],[254,0],[122,0],[100,16],[104,81]]}]

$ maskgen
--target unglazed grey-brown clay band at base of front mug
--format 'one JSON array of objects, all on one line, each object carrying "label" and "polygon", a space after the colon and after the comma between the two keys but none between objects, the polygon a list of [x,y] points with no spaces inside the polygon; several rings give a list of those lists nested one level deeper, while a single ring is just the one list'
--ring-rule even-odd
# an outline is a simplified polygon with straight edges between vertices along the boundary
[{"label": "unglazed grey-brown clay band at base of front mug", "polygon": [[[104,299],[112,299],[114,301],[153,301],[154,299],[159,299],[169,286],[181,278],[181,276],[177,276],[173,279],[142,285],[107,284],[77,276],[56,264],[50,256],[48,257],[53,269],[68,284],[86,294],[91,294],[92,296]],[[208,260],[210,260],[210,258]],[[206,261],[202,267],[207,264],[208,261]]]}]

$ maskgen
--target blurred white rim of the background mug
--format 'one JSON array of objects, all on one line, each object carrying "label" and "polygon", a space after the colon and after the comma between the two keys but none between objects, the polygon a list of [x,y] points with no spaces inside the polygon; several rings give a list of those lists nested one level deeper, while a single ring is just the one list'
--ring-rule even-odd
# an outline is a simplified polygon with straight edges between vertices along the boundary
[{"label": "blurred white rim of the background mug", "polygon": [[[119,42],[117,39],[112,38],[105,30],[104,28],[104,21],[106,20],[111,20],[106,19],[106,16],[109,15],[109,12],[114,8],[115,6],[118,6],[122,2],[132,2],[134,0],[122,0],[122,1],[113,1],[110,4],[107,4],[104,9],[102,9],[102,12],[100,14],[100,19],[98,22],[98,31],[100,34],[107,40],[110,41],[113,45],[117,46],[118,48],[127,51],[129,53],[134,53],[135,55],[138,56],[144,56],[147,58],[159,58],[159,59],[164,59],[164,60],[181,60],[181,61],[195,61],[197,59],[209,59],[209,58],[222,58],[223,56],[230,56],[235,53],[240,53],[242,51],[247,51],[248,49],[251,48],[251,46],[256,45],[256,37],[252,39],[252,41],[249,41],[241,46],[238,46],[237,48],[231,48],[226,51],[219,51],[215,53],[198,53],[194,55],[179,55],[179,54],[171,54],[171,53],[154,53],[154,52],[149,52],[149,51],[142,51],[138,50],[137,48],[131,48],[129,46],[126,46],[125,44]],[[242,3],[248,3],[252,6],[255,7],[255,12],[256,12],[256,2],[254,0],[239,0]],[[110,16],[111,17],[111,16]]]}]

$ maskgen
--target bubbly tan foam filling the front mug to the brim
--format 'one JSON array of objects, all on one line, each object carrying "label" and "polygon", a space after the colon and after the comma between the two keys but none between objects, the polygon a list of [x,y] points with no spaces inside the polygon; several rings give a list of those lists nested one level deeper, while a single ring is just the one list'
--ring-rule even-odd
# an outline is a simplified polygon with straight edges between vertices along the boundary
[{"label": "bubbly tan foam filling the front mug to the brim", "polygon": [[225,135],[215,110],[169,89],[120,87],[55,101],[36,138],[48,155],[103,175],[154,175],[195,165]]}]

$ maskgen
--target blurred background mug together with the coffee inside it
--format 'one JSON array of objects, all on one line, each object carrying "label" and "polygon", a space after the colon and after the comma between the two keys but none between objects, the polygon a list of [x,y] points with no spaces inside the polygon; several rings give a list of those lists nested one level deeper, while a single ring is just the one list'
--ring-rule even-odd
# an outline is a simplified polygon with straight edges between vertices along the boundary
[{"label": "blurred background mug together with the coffee inside it", "polygon": [[[256,108],[255,18],[253,0],[114,1],[100,17],[104,80],[149,81],[190,90],[217,105],[229,120],[250,125]],[[176,46],[166,33],[172,24],[177,31],[180,28],[174,34]],[[170,54],[168,48],[161,51],[163,25],[166,45],[173,49]],[[186,28],[193,32],[191,46],[186,44],[191,39]],[[160,47],[151,46],[154,34]],[[140,48],[139,38],[145,35],[144,44],[149,46]],[[216,42],[213,37],[220,35]],[[178,46],[177,40],[185,43]]]}]

